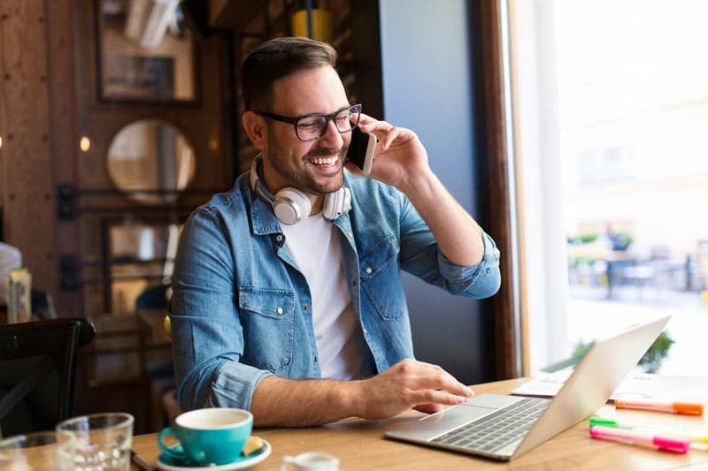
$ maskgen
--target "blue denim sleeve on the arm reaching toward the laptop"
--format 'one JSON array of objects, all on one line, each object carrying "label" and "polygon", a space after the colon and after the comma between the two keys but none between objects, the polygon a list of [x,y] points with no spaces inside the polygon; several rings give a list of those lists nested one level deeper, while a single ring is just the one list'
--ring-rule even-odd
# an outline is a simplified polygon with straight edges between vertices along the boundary
[{"label": "blue denim sleeve on the arm reaching toward the laptop", "polygon": [[242,364],[243,328],[235,304],[235,257],[219,218],[201,209],[182,232],[173,275],[170,321],[182,410],[250,408],[270,374]]}]

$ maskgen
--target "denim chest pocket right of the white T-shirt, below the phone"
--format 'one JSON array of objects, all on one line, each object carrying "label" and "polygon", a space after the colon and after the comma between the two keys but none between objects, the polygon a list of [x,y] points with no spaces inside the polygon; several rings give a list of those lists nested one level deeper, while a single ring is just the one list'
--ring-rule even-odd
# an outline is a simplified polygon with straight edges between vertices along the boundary
[{"label": "denim chest pocket right of the white T-shirt, below the phone", "polygon": [[359,277],[363,292],[381,319],[396,321],[404,316],[405,294],[394,236],[381,239],[362,254]]}]

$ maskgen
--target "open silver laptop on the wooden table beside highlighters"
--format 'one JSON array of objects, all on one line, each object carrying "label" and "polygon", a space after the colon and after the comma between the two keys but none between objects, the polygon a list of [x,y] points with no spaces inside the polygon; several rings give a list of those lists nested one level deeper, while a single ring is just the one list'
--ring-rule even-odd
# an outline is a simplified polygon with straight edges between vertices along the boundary
[{"label": "open silver laptop on the wooden table beside highlighters", "polygon": [[671,316],[635,324],[597,340],[553,399],[481,394],[406,422],[385,436],[416,444],[512,460],[587,419],[635,367]]}]

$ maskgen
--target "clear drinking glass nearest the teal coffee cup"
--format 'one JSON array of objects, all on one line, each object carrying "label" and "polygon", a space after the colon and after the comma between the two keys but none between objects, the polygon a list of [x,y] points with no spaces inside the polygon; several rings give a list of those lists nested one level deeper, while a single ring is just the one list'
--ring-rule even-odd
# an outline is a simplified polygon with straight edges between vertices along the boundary
[{"label": "clear drinking glass nearest the teal coffee cup", "polygon": [[128,471],[133,422],[126,413],[90,414],[61,422],[57,430],[74,437],[73,469]]}]

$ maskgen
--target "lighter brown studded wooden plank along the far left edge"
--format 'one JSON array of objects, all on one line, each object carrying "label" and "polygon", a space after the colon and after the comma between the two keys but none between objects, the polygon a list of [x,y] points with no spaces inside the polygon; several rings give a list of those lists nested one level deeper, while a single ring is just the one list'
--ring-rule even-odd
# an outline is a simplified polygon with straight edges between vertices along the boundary
[{"label": "lighter brown studded wooden plank along the far left edge", "polygon": [[[72,134],[65,117],[65,101],[52,82],[52,66],[61,66],[60,54],[50,60],[51,49],[67,48],[70,38],[50,27],[48,13],[63,0],[4,0],[0,3],[0,136],[3,137],[3,232],[7,243],[18,247],[32,272],[33,285],[58,292],[56,263],[58,227],[55,217],[54,153],[64,151]],[[58,19],[58,21],[60,21]],[[58,71],[53,71],[58,72]],[[65,77],[56,76],[59,81]],[[65,97],[64,97],[65,98]]]}]

